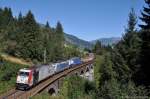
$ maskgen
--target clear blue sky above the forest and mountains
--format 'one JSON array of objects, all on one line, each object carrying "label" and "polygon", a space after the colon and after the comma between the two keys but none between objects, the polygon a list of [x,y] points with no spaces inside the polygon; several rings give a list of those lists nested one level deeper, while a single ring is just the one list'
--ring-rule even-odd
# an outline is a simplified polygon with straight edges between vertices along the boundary
[{"label": "clear blue sky above the forest and mountains", "polygon": [[143,5],[144,0],[0,0],[0,7],[12,8],[14,16],[31,10],[39,23],[54,27],[60,21],[64,32],[87,41],[121,37],[130,8],[140,16]]}]

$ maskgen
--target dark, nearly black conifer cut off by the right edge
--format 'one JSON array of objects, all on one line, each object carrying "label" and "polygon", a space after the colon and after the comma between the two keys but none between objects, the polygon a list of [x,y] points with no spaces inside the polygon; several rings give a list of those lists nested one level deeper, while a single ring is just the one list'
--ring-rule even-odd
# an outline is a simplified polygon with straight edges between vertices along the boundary
[{"label": "dark, nearly black conifer cut off by the right edge", "polygon": [[143,8],[141,12],[142,17],[141,21],[144,24],[139,25],[141,27],[141,53],[140,53],[140,64],[141,64],[141,73],[143,78],[140,80],[141,84],[150,85],[150,0],[145,0],[147,7]]}]

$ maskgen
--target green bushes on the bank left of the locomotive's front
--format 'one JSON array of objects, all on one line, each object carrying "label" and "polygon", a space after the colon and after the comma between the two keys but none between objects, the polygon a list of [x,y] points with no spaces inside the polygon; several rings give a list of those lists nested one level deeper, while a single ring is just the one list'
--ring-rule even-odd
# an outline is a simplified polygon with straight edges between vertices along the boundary
[{"label": "green bushes on the bank left of the locomotive's front", "polygon": [[28,66],[3,61],[0,64],[0,94],[15,87],[17,72]]}]

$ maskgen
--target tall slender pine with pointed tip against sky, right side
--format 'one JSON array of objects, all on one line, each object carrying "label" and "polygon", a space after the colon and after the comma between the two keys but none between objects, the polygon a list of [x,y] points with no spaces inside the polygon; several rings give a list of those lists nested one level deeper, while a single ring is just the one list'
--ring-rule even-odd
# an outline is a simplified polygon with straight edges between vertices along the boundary
[{"label": "tall slender pine with pointed tip against sky, right side", "polygon": [[123,36],[123,45],[125,49],[124,58],[127,61],[127,65],[130,67],[132,72],[137,71],[140,43],[139,33],[135,29],[137,23],[137,17],[134,9],[131,9],[129,13],[128,26],[126,28],[126,33]]}]

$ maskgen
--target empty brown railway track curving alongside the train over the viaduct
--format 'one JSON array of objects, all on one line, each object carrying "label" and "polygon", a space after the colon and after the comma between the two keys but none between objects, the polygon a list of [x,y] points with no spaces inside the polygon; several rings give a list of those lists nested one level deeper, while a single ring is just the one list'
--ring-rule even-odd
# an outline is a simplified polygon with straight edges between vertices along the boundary
[{"label": "empty brown railway track curving alongside the train over the viaduct", "polygon": [[71,73],[72,71],[78,70],[88,64],[91,64],[91,63],[93,63],[93,60],[84,62],[83,64],[81,64],[79,66],[74,66],[72,68],[65,69],[64,71],[61,71],[55,75],[50,76],[46,80],[42,81],[41,83],[39,83],[38,85],[36,85],[35,87],[33,87],[27,91],[12,89],[9,92],[7,92],[6,94],[0,96],[0,99],[29,99],[30,97],[36,95],[38,92],[40,92],[41,90],[46,88],[48,85],[50,85],[54,81],[66,76],[67,74]]}]

